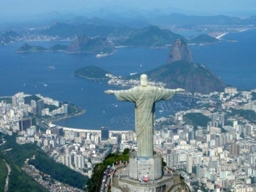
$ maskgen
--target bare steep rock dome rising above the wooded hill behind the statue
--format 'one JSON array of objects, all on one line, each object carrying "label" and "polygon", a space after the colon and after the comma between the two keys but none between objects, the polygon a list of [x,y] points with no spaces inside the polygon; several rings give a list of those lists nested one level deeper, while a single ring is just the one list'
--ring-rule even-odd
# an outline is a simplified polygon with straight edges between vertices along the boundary
[{"label": "bare steep rock dome rising above the wooded hill behind the statue", "polygon": [[174,63],[175,61],[183,60],[192,63],[191,52],[188,45],[181,38],[178,38],[172,45],[167,59],[167,63]]}]

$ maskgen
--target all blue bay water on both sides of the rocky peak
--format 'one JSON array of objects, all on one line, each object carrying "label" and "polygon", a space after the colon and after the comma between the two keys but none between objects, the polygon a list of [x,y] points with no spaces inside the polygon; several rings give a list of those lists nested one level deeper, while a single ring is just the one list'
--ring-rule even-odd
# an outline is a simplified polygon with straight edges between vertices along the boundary
[{"label": "all blue bay water on both sides of the rocky peak", "polygon": [[[256,87],[255,35],[256,30],[232,33],[224,37],[232,41],[190,46],[193,60],[205,64],[229,85],[241,90],[253,89]],[[77,78],[75,70],[97,65],[114,75],[140,73],[164,65],[169,52],[169,48],[119,48],[104,58],[95,58],[88,53],[16,53],[22,43],[0,47],[0,96],[11,96],[16,92],[40,93],[71,102],[85,109],[85,114],[58,124],[81,129],[131,129],[134,127],[134,105],[118,102],[113,95],[104,94],[104,90],[116,87]],[[56,42],[28,43],[50,47]],[[159,105],[161,107],[161,103]],[[166,114],[156,113],[156,117],[161,115]]]}]

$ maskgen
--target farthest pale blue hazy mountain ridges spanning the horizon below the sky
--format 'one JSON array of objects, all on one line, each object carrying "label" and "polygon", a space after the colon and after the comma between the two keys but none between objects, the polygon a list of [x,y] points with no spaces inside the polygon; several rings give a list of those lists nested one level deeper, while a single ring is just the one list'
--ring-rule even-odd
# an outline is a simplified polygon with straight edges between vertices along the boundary
[{"label": "farthest pale blue hazy mountain ridges spanning the horizon below the sky", "polygon": [[[129,10],[129,11],[128,11]],[[253,13],[253,12],[252,12]],[[242,13],[244,16],[245,13]],[[8,18],[2,19],[2,21],[9,22]],[[149,11],[143,10],[132,10],[127,9],[127,11],[120,10],[107,10],[107,8],[102,8],[99,10],[88,10],[85,9],[80,12],[63,12],[63,11],[53,11],[46,12],[44,14],[38,14],[35,17],[26,18],[15,18],[15,20],[9,22],[14,23],[15,26],[21,26],[21,21],[23,26],[31,25],[38,26],[38,23],[94,23],[98,26],[123,26],[132,28],[144,28],[149,25],[244,25],[244,24],[255,24],[255,16],[250,18],[239,18],[236,16],[225,16],[225,15],[215,15],[215,16],[198,16],[195,14],[184,12],[176,9],[167,9],[165,11],[160,9],[154,9]],[[18,23],[20,22],[20,23]]]}]

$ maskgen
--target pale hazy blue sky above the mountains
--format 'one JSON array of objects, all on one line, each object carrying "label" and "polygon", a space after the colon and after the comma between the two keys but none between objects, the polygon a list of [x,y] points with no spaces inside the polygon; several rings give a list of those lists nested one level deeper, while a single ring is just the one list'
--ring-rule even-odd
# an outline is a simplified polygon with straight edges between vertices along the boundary
[{"label": "pale hazy blue sky above the mountains", "polygon": [[[41,14],[48,11],[82,11],[100,8],[160,9],[188,14],[256,14],[256,0],[0,0],[0,15]],[[239,14],[239,15],[238,15]]]}]

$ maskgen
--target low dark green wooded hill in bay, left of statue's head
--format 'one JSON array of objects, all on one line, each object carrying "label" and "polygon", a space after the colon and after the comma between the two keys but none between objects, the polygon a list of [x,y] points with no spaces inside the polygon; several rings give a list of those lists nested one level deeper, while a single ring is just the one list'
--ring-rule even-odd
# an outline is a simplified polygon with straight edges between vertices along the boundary
[{"label": "low dark green wooded hill in bay, left of statue's head", "polygon": [[95,65],[90,65],[85,68],[80,68],[78,70],[75,70],[75,76],[80,78],[86,78],[89,80],[105,80],[109,79],[107,77],[108,72],[106,70],[103,70],[102,68],[99,68]]}]

